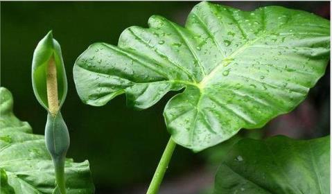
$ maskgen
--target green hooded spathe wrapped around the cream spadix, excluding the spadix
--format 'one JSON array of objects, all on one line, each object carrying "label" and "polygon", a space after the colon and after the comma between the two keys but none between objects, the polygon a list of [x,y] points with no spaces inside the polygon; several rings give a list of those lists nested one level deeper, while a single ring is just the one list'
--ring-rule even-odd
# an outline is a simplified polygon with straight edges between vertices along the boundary
[{"label": "green hooded spathe wrapped around the cream spadix, excluding the spadix", "polygon": [[52,31],[40,40],[35,48],[35,52],[33,53],[33,91],[35,92],[35,96],[40,105],[42,105],[46,110],[49,110],[46,72],[50,60],[54,60],[55,62],[58,80],[58,100],[61,107],[67,95],[67,76],[66,71],[64,70],[61,47],[60,44],[53,39]]}]

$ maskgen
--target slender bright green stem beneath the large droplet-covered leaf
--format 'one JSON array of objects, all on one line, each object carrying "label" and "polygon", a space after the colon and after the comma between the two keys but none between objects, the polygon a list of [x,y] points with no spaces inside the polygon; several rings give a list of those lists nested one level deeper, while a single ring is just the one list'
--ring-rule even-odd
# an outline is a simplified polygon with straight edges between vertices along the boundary
[{"label": "slender bright green stem beneath the large droplet-covered leaf", "polygon": [[172,140],[172,138],[170,138],[166,145],[164,153],[161,156],[161,159],[155,171],[155,175],[153,175],[152,181],[146,194],[156,194],[159,191],[159,186],[162,179],[164,178],[166,169],[168,168],[168,163],[173,155],[175,145],[176,143]]}]

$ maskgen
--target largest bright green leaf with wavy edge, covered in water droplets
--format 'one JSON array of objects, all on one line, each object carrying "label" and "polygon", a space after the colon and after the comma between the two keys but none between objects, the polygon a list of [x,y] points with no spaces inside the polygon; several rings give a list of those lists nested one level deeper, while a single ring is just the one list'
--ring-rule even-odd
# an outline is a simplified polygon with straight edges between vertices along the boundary
[{"label": "largest bright green leaf with wavy edge, covered in water droplets", "polygon": [[289,112],[329,60],[329,21],[300,10],[202,2],[185,28],[160,16],[148,25],[124,30],[118,46],[89,46],[73,67],[78,95],[101,106],[125,93],[146,109],[185,88],[164,117],[173,140],[195,151]]}]

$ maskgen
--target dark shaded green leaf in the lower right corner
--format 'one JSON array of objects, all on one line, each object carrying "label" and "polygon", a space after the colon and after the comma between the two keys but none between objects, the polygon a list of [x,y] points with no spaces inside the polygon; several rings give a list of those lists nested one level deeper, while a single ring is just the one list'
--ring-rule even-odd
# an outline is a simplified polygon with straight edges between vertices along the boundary
[{"label": "dark shaded green leaf in the lower right corner", "polygon": [[239,141],[217,172],[219,193],[330,193],[330,136]]}]

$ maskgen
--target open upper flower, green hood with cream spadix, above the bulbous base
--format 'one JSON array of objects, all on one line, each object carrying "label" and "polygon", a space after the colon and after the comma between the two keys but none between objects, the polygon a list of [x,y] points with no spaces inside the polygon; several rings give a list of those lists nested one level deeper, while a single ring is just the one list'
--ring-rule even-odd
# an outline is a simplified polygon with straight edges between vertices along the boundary
[{"label": "open upper flower, green hood with cream spadix, above the bulbous base", "polygon": [[[47,82],[52,78],[53,83]],[[53,115],[56,114],[67,95],[67,77],[60,44],[53,39],[52,31],[40,40],[33,53],[32,82],[33,91],[40,105]],[[51,84],[53,90],[50,91],[48,84]]]}]

